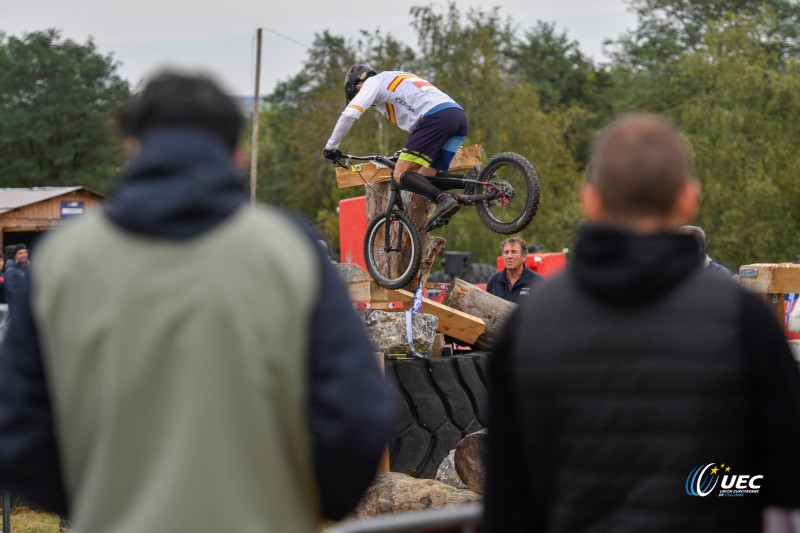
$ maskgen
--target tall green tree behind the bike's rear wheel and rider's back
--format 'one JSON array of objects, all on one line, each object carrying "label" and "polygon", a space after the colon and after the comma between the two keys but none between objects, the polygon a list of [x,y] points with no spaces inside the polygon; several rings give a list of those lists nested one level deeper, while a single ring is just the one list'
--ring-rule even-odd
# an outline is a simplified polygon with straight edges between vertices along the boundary
[{"label": "tall green tree behind the bike's rear wheel and rider's back", "polygon": [[[465,144],[482,145],[484,157],[518,152],[536,168],[542,204],[523,236],[545,249],[561,250],[580,217],[579,165],[565,135],[570,117],[560,108],[544,109],[541,86],[519,75],[514,24],[497,8],[462,14],[452,3],[445,13],[433,6],[415,7],[411,13],[420,56],[426,58],[427,70],[421,70],[467,112]],[[473,261],[480,262],[493,262],[502,240],[482,225],[474,209],[463,209],[441,235],[448,249],[471,251]]]}]

